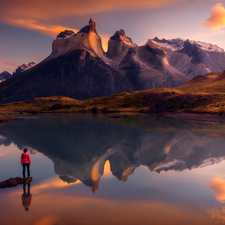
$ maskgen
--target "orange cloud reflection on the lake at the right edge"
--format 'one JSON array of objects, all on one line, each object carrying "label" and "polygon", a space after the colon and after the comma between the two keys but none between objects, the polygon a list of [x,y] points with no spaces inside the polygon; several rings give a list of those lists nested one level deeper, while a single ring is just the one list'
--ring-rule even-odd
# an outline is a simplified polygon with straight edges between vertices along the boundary
[{"label": "orange cloud reflection on the lake at the right edge", "polygon": [[204,183],[212,191],[215,199],[221,203],[225,203],[225,180],[222,177],[214,177]]}]

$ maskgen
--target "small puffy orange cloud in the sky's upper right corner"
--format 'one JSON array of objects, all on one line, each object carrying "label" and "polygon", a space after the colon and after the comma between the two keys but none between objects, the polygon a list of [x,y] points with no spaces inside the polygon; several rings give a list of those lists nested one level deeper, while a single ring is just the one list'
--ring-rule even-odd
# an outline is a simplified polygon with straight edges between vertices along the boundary
[{"label": "small puffy orange cloud in the sky's upper right corner", "polygon": [[225,27],[225,8],[222,3],[212,7],[209,17],[202,25],[211,30],[220,30]]}]

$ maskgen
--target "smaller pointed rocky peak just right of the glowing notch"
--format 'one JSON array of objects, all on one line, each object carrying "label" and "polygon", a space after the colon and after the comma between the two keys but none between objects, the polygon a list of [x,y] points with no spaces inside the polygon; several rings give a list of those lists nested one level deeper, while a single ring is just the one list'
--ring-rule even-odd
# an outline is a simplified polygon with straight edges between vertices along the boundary
[{"label": "smaller pointed rocky peak just right of the glowing notch", "polygon": [[120,58],[128,52],[129,48],[135,47],[137,45],[132,42],[131,38],[126,36],[123,29],[120,29],[110,37],[106,56],[110,59]]}]

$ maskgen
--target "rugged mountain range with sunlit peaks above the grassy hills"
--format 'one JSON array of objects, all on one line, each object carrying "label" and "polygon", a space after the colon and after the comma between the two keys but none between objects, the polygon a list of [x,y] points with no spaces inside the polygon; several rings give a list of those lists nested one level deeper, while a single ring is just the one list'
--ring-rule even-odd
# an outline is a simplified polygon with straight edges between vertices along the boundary
[{"label": "rugged mountain range with sunlit peaks above the grassy hills", "polygon": [[42,62],[2,82],[0,103],[54,95],[87,99],[176,87],[197,75],[223,70],[225,52],[218,46],[180,38],[154,38],[138,46],[122,29],[110,37],[105,53],[90,19],[77,33],[61,32]]}]

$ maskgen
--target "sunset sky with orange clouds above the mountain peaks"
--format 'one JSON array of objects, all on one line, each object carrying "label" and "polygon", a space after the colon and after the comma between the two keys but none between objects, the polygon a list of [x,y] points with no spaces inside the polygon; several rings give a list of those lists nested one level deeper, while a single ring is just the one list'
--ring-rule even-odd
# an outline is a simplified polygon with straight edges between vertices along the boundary
[{"label": "sunset sky with orange clouds above the mountain peaks", "polygon": [[77,32],[90,18],[105,50],[119,29],[138,45],[182,38],[225,49],[225,0],[1,0],[0,73],[41,62],[57,34]]}]

